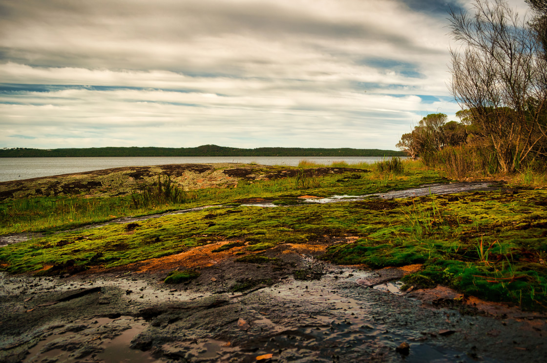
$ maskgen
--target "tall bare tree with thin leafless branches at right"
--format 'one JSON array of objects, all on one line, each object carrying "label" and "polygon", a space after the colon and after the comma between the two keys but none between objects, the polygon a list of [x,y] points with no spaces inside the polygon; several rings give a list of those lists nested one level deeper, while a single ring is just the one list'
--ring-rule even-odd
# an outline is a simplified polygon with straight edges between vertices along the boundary
[{"label": "tall bare tree with thin leafless branches at right", "polygon": [[504,172],[513,172],[547,137],[542,45],[526,19],[507,3],[476,0],[474,15],[450,12],[450,88],[468,122],[482,130]]}]

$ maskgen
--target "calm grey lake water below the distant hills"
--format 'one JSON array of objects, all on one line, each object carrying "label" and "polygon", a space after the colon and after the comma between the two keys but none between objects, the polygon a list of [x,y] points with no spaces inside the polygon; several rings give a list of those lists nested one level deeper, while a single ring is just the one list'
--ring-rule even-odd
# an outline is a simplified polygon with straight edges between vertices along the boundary
[{"label": "calm grey lake water below the distant hills", "polygon": [[236,162],[259,163],[262,165],[297,166],[300,160],[330,164],[333,161],[348,163],[375,162],[382,160],[378,156],[195,156],[195,157],[2,157],[0,158],[0,182],[21,180],[50,175],[86,172],[99,169],[124,166],[148,166],[185,163]]}]

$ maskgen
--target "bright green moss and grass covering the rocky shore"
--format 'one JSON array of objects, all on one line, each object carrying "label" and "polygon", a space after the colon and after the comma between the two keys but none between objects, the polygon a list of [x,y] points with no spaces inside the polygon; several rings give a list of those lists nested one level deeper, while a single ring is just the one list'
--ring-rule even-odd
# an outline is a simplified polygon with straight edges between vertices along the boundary
[{"label": "bright green moss and grass covering the rocky shore", "polygon": [[[442,171],[424,168],[420,161],[401,162],[402,171],[386,167],[398,164],[386,160],[353,165],[354,171],[344,174],[300,174],[300,179],[314,178],[313,183],[299,182],[299,174],[240,180],[237,188],[185,191],[183,198],[173,193],[176,186],[172,186],[176,198],[154,202],[152,197],[146,207],[136,206],[135,195],[6,200],[0,203],[2,233],[43,231],[46,236],[0,248],[0,264],[11,273],[59,274],[125,266],[218,242],[220,247],[213,253],[237,247],[241,261],[270,261],[272,257],[264,253],[277,245],[324,243],[328,249],[322,258],[337,264],[369,268],[423,264],[420,272],[406,277],[408,286],[415,288],[443,284],[487,300],[534,309],[547,306],[545,185],[534,188],[510,182],[496,191],[329,204],[302,203],[298,198],[364,195],[446,181]],[[301,170],[324,167],[302,161],[304,165],[307,169]],[[241,206],[257,198],[280,207]],[[223,206],[50,234],[92,218],[207,204]],[[333,243],[332,237],[353,238],[350,243]]]}]

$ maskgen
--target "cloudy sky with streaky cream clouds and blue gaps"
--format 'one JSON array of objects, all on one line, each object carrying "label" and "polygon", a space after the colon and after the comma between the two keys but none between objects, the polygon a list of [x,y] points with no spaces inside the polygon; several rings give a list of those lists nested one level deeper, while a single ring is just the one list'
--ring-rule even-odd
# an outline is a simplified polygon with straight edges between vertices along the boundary
[{"label": "cloudy sky with streaky cream clouds and blue gaps", "polygon": [[395,150],[457,120],[449,7],[470,3],[0,0],[0,148]]}]

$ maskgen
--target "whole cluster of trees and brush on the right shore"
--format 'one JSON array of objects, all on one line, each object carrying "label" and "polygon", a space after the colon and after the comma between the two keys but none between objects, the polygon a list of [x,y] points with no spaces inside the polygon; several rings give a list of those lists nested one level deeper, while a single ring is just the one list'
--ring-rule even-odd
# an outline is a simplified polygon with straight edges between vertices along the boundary
[{"label": "whole cluster of trees and brush on the right shore", "polygon": [[450,91],[461,122],[429,114],[397,147],[458,177],[547,168],[547,0],[521,18],[502,0],[450,11]]}]

